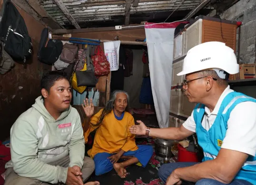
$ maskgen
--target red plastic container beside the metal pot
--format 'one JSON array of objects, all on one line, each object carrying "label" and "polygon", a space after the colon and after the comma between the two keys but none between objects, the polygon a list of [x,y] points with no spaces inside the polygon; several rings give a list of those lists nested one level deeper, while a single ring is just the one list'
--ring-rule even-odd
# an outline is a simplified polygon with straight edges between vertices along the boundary
[{"label": "red plastic container beside the metal pot", "polygon": [[178,162],[199,162],[196,152],[187,151],[186,148],[183,148],[178,144]]}]

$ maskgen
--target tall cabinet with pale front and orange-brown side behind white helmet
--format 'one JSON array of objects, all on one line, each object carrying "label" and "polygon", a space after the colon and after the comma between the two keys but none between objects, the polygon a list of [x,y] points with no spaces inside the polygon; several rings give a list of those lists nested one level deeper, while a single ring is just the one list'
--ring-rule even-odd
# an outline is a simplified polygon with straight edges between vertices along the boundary
[{"label": "tall cabinet with pale front and orange-brown side behind white helmet", "polygon": [[[179,35],[176,35],[173,49],[172,87],[182,85],[185,75],[177,76],[177,74],[182,71],[184,57],[187,52],[194,46],[205,42],[219,41],[225,42],[226,46],[236,51],[236,28],[236,22],[233,21],[220,21],[217,18],[198,16],[192,25],[183,29]],[[171,90],[170,99],[169,111],[178,116],[189,117],[196,106],[196,103],[188,102],[182,89]],[[181,122],[182,120],[180,120],[180,124],[178,123],[179,126]]]}]

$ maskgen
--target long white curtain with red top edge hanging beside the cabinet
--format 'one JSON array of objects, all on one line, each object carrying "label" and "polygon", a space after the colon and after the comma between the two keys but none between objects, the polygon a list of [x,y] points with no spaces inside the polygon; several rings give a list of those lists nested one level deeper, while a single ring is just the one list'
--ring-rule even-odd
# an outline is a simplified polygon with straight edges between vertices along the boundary
[{"label": "long white curtain with red top edge hanging beside the cabinet", "polygon": [[[152,23],[151,23],[152,24]],[[150,80],[160,128],[169,125],[174,30],[180,23],[145,26]]]}]

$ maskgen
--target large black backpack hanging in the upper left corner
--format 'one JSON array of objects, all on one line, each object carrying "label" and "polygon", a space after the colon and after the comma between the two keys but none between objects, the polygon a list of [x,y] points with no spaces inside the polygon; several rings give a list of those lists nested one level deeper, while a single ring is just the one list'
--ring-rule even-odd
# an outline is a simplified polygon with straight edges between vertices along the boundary
[{"label": "large black backpack hanging in the upper left corner", "polygon": [[32,43],[24,19],[16,7],[7,0],[0,24],[0,39],[4,50],[16,60],[24,63],[32,54]]}]

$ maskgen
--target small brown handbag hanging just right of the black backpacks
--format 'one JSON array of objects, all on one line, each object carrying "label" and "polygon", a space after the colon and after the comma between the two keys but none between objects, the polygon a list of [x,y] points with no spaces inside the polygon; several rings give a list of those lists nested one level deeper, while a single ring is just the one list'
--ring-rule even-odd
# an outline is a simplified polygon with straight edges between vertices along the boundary
[{"label": "small brown handbag hanging just right of the black backpacks", "polygon": [[72,44],[64,44],[59,59],[63,62],[72,64],[75,60],[75,56],[78,52],[78,46]]}]

